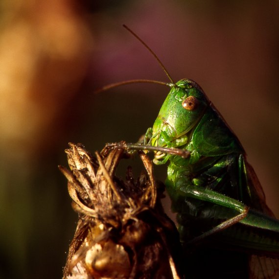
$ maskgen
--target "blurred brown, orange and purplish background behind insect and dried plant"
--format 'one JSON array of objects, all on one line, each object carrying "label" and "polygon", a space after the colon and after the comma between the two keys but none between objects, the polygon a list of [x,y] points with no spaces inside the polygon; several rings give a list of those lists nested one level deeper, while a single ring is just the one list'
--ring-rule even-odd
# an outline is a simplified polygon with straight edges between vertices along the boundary
[{"label": "blurred brown, orange and purplish background behind insect and dried plant", "polygon": [[[61,278],[77,214],[64,149],[135,142],[168,82],[192,78],[225,117],[279,217],[279,2],[2,0],[0,2],[0,278]],[[165,168],[156,176],[165,178]],[[170,209],[167,206],[166,211]]]}]

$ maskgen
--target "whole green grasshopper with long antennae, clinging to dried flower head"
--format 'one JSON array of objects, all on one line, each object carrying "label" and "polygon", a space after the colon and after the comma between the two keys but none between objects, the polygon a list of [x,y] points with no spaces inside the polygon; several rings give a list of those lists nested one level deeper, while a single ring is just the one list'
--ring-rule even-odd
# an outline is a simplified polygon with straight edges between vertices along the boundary
[{"label": "whole green grasshopper with long antennae, clinging to dried flower head", "polygon": [[[177,212],[187,278],[279,278],[279,221],[241,143],[196,82],[174,83],[156,54],[124,27],[159,61],[170,83],[132,80],[102,90],[135,82],[171,87],[144,145],[127,147],[153,149],[155,164],[169,163],[165,185]],[[220,265],[222,272],[214,271]]]}]

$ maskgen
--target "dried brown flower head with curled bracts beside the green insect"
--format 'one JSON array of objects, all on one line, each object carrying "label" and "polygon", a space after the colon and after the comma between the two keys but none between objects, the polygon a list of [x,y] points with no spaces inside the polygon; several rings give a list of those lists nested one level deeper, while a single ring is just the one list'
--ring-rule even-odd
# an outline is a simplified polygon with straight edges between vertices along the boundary
[{"label": "dried brown flower head with curled bracts beside the green insect", "polygon": [[127,157],[124,145],[93,157],[70,143],[66,153],[70,170],[59,168],[79,220],[64,279],[181,278],[179,235],[157,198],[148,157],[140,152],[145,171],[135,180],[128,167],[123,181],[115,171]]}]

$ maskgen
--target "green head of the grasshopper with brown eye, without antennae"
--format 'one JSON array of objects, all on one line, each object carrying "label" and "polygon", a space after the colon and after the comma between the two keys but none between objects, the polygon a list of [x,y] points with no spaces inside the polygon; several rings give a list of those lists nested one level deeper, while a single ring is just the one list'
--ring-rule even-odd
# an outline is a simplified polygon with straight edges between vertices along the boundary
[{"label": "green head of the grasshopper with brown eye, without antennae", "polygon": [[166,147],[186,144],[187,134],[196,126],[208,105],[208,98],[196,82],[180,80],[163,103],[149,143]]}]

